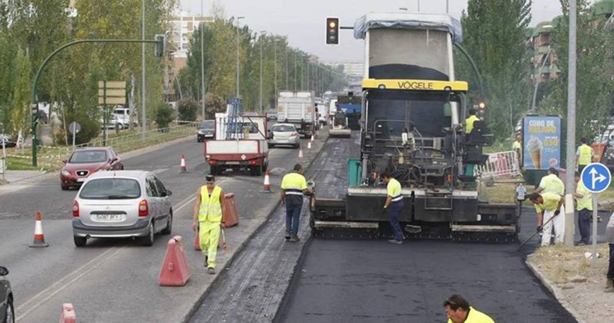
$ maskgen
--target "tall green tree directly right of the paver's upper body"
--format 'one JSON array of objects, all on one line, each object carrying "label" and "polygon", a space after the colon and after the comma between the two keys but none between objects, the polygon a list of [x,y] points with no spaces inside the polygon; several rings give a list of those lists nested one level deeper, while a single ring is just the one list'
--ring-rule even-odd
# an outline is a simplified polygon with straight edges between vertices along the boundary
[{"label": "tall green tree directly right of the paver's upper body", "polygon": [[[487,122],[499,137],[510,135],[513,120],[529,102],[532,87],[525,31],[531,20],[530,7],[530,0],[469,0],[461,17],[462,45],[480,69]],[[455,61],[457,79],[470,80],[472,88],[477,89],[467,60],[456,53]],[[475,103],[476,92],[471,96]]]}]

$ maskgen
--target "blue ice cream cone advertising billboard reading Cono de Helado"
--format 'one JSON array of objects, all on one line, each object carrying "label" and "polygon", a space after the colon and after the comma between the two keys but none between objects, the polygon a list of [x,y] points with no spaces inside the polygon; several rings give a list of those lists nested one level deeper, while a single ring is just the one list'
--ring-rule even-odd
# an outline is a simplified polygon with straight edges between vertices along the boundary
[{"label": "blue ice cream cone advertising billboard reading Cono de Helado", "polygon": [[524,117],[523,165],[533,170],[561,167],[561,117]]}]

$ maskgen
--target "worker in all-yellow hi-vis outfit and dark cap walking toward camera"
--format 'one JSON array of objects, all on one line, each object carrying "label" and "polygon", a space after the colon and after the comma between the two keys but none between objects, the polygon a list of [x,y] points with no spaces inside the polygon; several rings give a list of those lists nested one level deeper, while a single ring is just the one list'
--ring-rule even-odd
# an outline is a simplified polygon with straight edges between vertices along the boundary
[{"label": "worker in all-yellow hi-vis outfit and dark cap walking toward camera", "polygon": [[204,254],[204,267],[209,274],[216,273],[217,244],[224,225],[224,194],[216,185],[216,177],[206,176],[206,185],[196,191],[193,209],[192,230],[198,228],[200,249]]}]

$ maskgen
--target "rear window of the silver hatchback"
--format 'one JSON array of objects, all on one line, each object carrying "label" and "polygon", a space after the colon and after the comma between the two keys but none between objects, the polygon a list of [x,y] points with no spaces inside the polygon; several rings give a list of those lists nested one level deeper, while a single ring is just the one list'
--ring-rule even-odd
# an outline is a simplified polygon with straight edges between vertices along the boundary
[{"label": "rear window of the silver hatchback", "polygon": [[101,178],[88,181],[80,198],[87,200],[125,200],[141,197],[141,187],[134,179]]}]

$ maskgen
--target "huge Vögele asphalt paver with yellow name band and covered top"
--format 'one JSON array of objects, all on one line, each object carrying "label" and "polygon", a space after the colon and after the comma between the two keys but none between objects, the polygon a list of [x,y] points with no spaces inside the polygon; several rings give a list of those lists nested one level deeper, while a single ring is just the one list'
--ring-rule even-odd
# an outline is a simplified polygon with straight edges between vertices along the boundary
[{"label": "huge V\u00f6gele asphalt paver with yellow name band and covered top", "polygon": [[354,24],[365,40],[360,155],[348,160],[341,198],[311,198],[316,236],[391,236],[384,212],[388,172],[402,184],[400,222],[407,238],[516,241],[520,202],[478,195],[473,167],[492,143],[483,121],[465,135],[468,84],[454,76],[459,21],[449,15],[370,13]]}]

